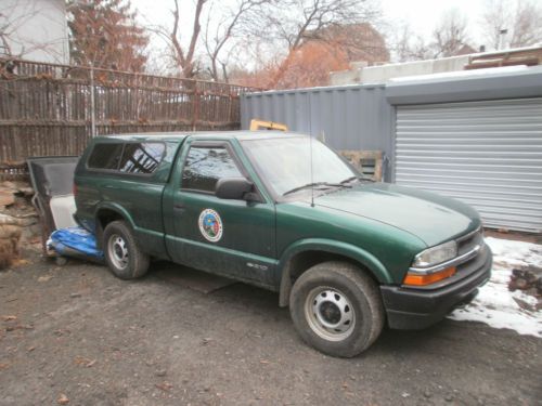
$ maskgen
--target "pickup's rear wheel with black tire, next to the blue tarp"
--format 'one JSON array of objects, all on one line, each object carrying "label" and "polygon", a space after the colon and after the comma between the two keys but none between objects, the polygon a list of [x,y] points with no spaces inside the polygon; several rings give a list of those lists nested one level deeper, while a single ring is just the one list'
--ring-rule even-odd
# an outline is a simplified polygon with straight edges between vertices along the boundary
[{"label": "pickup's rear wheel with black tire, next to the blue tarp", "polygon": [[138,248],[131,228],[124,221],[107,224],[103,250],[109,271],[120,279],[139,278],[149,271],[150,258]]}]

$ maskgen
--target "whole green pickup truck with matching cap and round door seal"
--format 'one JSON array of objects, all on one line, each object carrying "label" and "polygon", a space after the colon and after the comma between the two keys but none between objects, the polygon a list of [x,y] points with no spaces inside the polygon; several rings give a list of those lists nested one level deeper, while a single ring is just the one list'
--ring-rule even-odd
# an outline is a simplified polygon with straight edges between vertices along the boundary
[{"label": "whole green pickup truck with matching cap and round door seal", "polygon": [[438,322],[491,272],[473,208],[366,180],[301,134],[96,137],[74,193],[116,276],[162,259],[276,291],[301,338],[334,356],[361,353],[384,325]]}]

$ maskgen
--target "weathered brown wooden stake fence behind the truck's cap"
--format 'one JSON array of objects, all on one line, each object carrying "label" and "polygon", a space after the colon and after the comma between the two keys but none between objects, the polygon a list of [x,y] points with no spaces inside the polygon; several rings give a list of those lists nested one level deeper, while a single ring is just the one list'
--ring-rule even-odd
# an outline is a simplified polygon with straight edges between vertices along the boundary
[{"label": "weathered brown wooden stake fence behind the truck's cap", "polygon": [[0,58],[0,178],[27,157],[78,155],[102,134],[238,129],[250,90]]}]

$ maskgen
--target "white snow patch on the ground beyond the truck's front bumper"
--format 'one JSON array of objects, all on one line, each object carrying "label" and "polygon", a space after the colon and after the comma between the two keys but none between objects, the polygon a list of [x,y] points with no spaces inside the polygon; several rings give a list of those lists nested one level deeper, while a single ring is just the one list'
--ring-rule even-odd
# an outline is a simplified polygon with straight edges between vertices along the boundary
[{"label": "white snow patch on the ground beyond the truck's front bumper", "polygon": [[542,311],[535,311],[537,298],[521,290],[508,290],[514,267],[542,267],[542,246],[493,237],[486,238],[486,243],[493,252],[491,279],[480,288],[473,302],[455,310],[449,318],[481,322],[494,328],[509,328],[520,335],[542,338]]}]

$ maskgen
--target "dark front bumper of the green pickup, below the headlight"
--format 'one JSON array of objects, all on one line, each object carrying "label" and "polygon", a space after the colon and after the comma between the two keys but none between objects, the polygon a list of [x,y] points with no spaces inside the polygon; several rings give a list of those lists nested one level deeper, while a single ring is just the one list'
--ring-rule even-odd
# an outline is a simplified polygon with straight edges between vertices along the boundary
[{"label": "dark front bumper of the green pickup, below the headlight", "polygon": [[491,276],[492,253],[488,246],[476,258],[462,264],[449,285],[435,290],[414,289],[401,286],[380,286],[384,306],[390,328],[426,328],[450,313],[460,304],[470,302],[478,287]]}]

